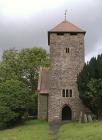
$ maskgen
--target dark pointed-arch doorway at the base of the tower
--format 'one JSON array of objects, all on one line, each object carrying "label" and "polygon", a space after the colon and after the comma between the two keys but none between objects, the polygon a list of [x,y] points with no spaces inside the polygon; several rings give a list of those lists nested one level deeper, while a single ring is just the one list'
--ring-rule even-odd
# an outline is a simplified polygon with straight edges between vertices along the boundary
[{"label": "dark pointed-arch doorway at the base of the tower", "polygon": [[62,120],[71,120],[72,119],[72,111],[71,108],[66,105],[62,108]]}]

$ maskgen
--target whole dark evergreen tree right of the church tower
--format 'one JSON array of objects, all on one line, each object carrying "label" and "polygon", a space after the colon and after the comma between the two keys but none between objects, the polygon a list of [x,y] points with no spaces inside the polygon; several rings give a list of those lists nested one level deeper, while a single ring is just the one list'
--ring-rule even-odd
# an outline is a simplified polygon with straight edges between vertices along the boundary
[{"label": "whole dark evergreen tree right of the church tower", "polygon": [[85,64],[78,79],[78,89],[83,103],[98,118],[102,117],[102,55]]}]

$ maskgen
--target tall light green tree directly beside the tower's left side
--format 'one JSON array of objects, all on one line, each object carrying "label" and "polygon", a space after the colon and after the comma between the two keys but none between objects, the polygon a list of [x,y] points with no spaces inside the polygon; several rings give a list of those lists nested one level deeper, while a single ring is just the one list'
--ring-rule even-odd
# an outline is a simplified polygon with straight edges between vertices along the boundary
[{"label": "tall light green tree directly beside the tower's left side", "polygon": [[32,92],[35,91],[39,68],[49,65],[48,54],[41,48],[23,49],[19,53],[18,60],[23,82],[30,87]]}]

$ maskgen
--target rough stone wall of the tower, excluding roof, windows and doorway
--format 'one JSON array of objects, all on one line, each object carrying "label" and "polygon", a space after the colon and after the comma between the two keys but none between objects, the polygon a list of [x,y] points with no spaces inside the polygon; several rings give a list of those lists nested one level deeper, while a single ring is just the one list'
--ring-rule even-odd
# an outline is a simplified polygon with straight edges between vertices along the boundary
[{"label": "rough stone wall of the tower, excluding roof, windows and doorway", "polygon": [[[69,48],[69,53],[66,53]],[[62,107],[68,104],[72,110],[72,119],[78,119],[84,106],[79,99],[77,75],[84,65],[84,34],[59,36],[50,34],[50,72],[48,120],[59,120]],[[72,89],[72,97],[62,97],[63,89]]]}]

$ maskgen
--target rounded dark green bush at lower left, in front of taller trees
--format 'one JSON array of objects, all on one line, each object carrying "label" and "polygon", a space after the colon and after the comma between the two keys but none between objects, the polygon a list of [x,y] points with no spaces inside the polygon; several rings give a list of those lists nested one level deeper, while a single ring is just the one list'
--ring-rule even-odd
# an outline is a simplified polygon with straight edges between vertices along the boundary
[{"label": "rounded dark green bush at lower left, in front of taller trees", "polygon": [[18,80],[6,80],[0,84],[0,128],[22,121],[29,111],[32,98],[29,88]]}]

